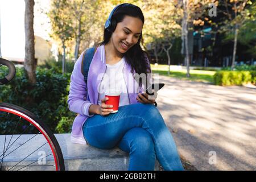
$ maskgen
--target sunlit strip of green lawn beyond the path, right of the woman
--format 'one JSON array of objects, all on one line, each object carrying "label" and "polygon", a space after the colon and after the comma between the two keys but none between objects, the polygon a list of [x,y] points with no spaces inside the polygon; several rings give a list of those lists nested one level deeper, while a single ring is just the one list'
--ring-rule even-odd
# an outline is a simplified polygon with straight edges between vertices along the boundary
[{"label": "sunlit strip of green lawn beyond the path, right of the woman", "polygon": [[[168,65],[151,65],[153,73],[159,73],[159,75],[168,76]],[[201,81],[213,83],[213,75],[215,71],[203,71],[203,70],[190,70],[190,77],[186,76],[187,70],[170,71],[170,77],[180,78],[183,80]]]}]

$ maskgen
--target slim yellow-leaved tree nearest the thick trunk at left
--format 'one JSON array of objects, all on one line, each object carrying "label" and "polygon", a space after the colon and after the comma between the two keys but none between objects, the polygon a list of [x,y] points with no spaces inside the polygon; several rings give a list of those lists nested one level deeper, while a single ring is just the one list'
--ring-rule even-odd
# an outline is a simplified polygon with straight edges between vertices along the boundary
[{"label": "slim yellow-leaved tree nearest the thick trunk at left", "polygon": [[72,26],[73,19],[69,13],[70,2],[67,0],[53,0],[51,10],[48,16],[52,25],[52,37],[59,39],[63,48],[62,73],[65,72],[65,44],[74,37],[74,29]]}]

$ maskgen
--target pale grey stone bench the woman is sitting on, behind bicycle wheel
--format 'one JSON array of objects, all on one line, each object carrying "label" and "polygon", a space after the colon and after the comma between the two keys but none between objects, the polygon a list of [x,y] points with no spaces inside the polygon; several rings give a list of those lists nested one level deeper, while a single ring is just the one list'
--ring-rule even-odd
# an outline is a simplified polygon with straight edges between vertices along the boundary
[{"label": "pale grey stone bench the woman is sitting on, behind bicycle wheel", "polygon": [[[22,136],[23,140],[26,141],[27,138],[30,138],[30,135]],[[98,148],[92,147],[90,145],[75,144],[71,142],[71,134],[55,134],[56,139],[58,140],[61,151],[63,153],[63,158],[65,162],[65,169],[67,171],[90,171],[90,170],[106,170],[106,171],[126,171],[129,166],[129,154],[123,152],[118,147],[115,147],[111,150],[100,150]],[[15,136],[14,136],[15,138]],[[0,143],[4,136],[0,136]],[[44,138],[38,138],[33,140],[33,142],[40,143],[40,140]],[[32,141],[32,140],[31,140]],[[19,143],[23,143],[19,141]],[[33,143],[31,144],[33,145]],[[49,147],[42,148],[43,151],[50,150]],[[1,152],[1,151],[0,151]],[[8,160],[10,163],[19,158],[20,154],[14,155]],[[38,159],[38,154],[31,156],[26,160],[36,160]],[[53,160],[53,158],[52,158]],[[28,161],[28,163],[30,162]],[[47,170],[45,168],[44,170]],[[158,160],[155,163],[155,170],[160,170],[160,164]]]}]

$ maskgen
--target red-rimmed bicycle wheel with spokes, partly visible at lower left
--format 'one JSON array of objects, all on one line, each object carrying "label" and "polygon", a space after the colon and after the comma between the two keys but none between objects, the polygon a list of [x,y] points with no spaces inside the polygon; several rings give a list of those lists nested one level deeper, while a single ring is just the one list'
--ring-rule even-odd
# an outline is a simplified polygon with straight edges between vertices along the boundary
[{"label": "red-rimmed bicycle wheel with spokes, partly visible at lower left", "polygon": [[0,170],[64,171],[57,139],[22,107],[0,103]]}]

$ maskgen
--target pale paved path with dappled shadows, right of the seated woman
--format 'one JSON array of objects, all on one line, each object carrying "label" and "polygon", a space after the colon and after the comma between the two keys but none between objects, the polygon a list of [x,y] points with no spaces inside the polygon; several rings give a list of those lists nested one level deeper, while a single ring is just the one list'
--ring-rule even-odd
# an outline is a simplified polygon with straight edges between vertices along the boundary
[{"label": "pale paved path with dappled shadows, right of the seated woman", "polygon": [[159,82],[158,108],[185,159],[198,170],[256,170],[256,89]]}]

